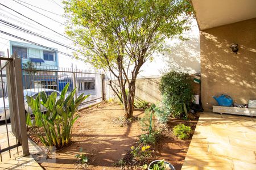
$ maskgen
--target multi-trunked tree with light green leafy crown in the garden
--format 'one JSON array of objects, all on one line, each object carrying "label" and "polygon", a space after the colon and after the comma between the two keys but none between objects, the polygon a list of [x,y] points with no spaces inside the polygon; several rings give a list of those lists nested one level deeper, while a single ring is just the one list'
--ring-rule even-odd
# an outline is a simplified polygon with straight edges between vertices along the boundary
[{"label": "multi-trunked tree with light green leafy crown in the garden", "polygon": [[122,101],[125,117],[132,117],[135,82],[142,65],[152,59],[152,53],[164,50],[166,38],[183,39],[181,33],[189,29],[192,17],[191,3],[66,0],[64,5],[67,35],[87,62],[108,73],[109,85]]}]

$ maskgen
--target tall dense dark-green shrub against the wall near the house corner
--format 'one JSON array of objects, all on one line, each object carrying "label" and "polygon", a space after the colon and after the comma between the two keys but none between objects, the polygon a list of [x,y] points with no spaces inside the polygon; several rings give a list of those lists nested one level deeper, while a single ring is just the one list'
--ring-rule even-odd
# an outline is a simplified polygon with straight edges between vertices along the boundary
[{"label": "tall dense dark-green shrub against the wall near the house corner", "polygon": [[192,82],[187,73],[171,71],[162,76],[160,91],[163,96],[163,111],[167,112],[164,116],[168,114],[172,117],[185,116],[184,108],[189,111],[193,101]]}]

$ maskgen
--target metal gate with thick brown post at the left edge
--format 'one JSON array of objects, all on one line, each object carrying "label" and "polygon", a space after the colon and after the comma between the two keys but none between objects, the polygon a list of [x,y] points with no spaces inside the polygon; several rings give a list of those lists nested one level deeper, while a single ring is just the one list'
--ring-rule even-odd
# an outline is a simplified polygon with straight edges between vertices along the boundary
[{"label": "metal gate with thick brown post at the left edge", "polygon": [[7,86],[7,92],[0,98],[1,162],[3,155],[8,154],[11,158],[11,155],[19,154],[19,146],[22,146],[23,156],[29,155],[21,70],[16,53],[10,58],[0,56],[1,91],[6,91]]}]

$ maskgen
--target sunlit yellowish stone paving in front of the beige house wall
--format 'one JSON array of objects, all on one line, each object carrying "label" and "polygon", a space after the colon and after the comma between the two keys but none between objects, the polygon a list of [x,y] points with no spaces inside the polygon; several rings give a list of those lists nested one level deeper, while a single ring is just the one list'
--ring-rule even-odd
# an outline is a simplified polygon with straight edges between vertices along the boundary
[{"label": "sunlit yellowish stone paving in front of the beige house wall", "polygon": [[183,170],[256,169],[256,118],[202,113]]}]

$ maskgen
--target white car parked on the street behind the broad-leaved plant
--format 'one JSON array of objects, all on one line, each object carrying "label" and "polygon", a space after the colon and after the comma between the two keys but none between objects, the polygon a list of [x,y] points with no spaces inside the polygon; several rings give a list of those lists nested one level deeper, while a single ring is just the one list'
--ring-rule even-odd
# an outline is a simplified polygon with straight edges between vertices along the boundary
[{"label": "white car parked on the street behind the broad-leaved plant", "polygon": [[[47,96],[51,95],[52,92],[57,92],[57,99],[61,95],[61,92],[56,91],[56,90],[52,90],[52,89],[49,89],[49,88],[30,88],[30,89],[23,90],[24,107],[25,107],[25,112],[26,113],[30,113],[30,114],[32,113],[31,108],[28,107],[26,95],[31,96],[35,99],[38,96],[38,94],[40,92],[43,92],[43,91],[46,92]],[[8,97],[5,97],[4,100],[5,100],[5,108],[6,108],[6,120],[10,120],[9,99],[8,99]],[[5,108],[4,108],[4,105],[3,105],[3,97],[1,97],[0,98],[0,121],[5,120]],[[46,108],[42,106],[41,111],[45,112]]]}]

